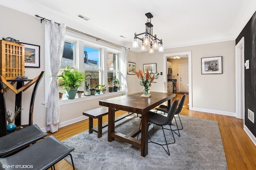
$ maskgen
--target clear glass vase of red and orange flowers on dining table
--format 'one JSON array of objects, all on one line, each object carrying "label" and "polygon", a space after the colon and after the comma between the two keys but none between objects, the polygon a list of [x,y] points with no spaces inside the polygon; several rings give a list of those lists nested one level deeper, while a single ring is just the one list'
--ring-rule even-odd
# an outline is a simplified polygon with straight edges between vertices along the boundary
[{"label": "clear glass vase of red and orange flowers on dining table", "polygon": [[152,72],[148,71],[135,71],[136,76],[140,80],[140,86],[143,86],[143,93],[145,96],[148,96],[150,93],[149,87],[151,86],[151,83],[156,83],[154,80],[158,79],[159,73],[154,74]]}]

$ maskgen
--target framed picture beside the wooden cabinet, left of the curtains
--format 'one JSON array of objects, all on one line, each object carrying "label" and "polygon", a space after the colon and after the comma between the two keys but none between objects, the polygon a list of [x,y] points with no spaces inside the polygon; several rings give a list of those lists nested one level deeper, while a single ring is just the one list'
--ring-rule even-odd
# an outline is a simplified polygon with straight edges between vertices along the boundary
[{"label": "framed picture beside the wooden cabinet, left of the curtains", "polygon": [[40,68],[40,46],[21,43],[25,45],[25,67]]}]

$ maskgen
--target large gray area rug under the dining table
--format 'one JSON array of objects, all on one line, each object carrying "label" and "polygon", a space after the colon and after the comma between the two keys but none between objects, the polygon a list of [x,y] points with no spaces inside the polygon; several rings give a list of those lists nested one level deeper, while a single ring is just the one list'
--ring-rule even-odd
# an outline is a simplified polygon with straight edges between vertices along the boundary
[{"label": "large gray area rug under the dining table", "polygon": [[[102,129],[101,138],[95,132],[88,134],[84,131],[62,142],[75,148],[71,154],[77,170],[228,169],[218,122],[182,115],[180,118],[183,129],[180,130],[180,137],[174,134],[176,142],[168,145],[170,156],[154,143],[148,143],[148,155],[142,157],[140,149],[128,143],[118,139],[108,142],[107,127]],[[174,120],[172,123],[176,125]],[[132,115],[116,122],[115,131],[128,134],[139,124],[140,118]],[[174,125],[172,129],[175,129]],[[152,128],[153,125],[150,125],[150,139],[164,143],[162,130],[153,131]],[[171,131],[165,130],[165,134],[167,142],[173,141]],[[71,163],[69,156],[65,159]]]}]

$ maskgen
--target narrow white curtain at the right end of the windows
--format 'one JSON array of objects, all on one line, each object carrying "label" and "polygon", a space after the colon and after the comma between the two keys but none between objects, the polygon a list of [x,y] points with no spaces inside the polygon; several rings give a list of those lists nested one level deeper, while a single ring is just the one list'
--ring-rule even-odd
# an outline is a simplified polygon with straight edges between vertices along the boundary
[{"label": "narrow white curtain at the right end of the windows", "polygon": [[128,94],[128,87],[127,87],[127,72],[128,72],[128,55],[126,48],[122,47],[122,55],[120,56],[120,73],[121,73],[121,83],[122,83],[122,90],[124,95]]}]

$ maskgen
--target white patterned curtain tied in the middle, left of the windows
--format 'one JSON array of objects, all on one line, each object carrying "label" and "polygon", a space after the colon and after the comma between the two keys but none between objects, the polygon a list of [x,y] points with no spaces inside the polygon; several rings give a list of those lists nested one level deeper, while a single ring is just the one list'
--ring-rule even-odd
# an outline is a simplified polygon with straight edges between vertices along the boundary
[{"label": "white patterned curtain tied in the middle, left of the windows", "polygon": [[60,70],[60,64],[63,55],[66,24],[57,24],[54,23],[53,20],[48,21],[47,24],[49,34],[49,57],[52,82],[50,84],[48,95],[46,130],[54,133],[58,131],[58,123],[60,122],[60,103],[57,75]]}]

